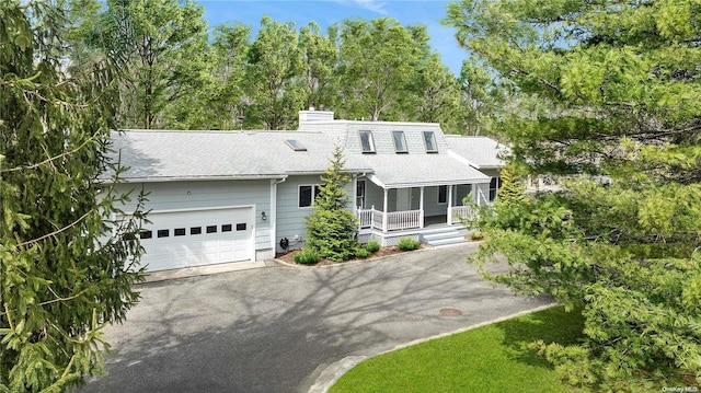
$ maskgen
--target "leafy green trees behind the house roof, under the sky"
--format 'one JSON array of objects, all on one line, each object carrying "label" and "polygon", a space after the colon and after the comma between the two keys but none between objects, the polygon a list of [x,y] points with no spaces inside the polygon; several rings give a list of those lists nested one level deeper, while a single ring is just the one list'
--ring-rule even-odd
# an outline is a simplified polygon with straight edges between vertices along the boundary
[{"label": "leafy green trees behind the house roof, under the sky", "polygon": [[[455,76],[427,28],[348,19],[321,32],[263,16],[208,28],[187,0],[71,0],[68,60],[118,70],[119,128],[295,129],[310,103],[341,118],[440,123],[490,134],[505,100],[480,65]],[[256,31],[255,36],[251,32]]]}]

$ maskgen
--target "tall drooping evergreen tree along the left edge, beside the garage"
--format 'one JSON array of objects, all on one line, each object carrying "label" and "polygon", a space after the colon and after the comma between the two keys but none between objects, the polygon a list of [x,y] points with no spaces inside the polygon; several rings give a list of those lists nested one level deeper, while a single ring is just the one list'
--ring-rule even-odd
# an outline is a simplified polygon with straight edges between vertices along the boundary
[{"label": "tall drooping evergreen tree along the left edge, beside the garage", "polygon": [[138,300],[136,222],[105,223],[126,198],[101,182],[120,171],[106,159],[111,72],[64,71],[61,5],[0,2],[2,392],[59,392],[101,372],[102,327]]}]

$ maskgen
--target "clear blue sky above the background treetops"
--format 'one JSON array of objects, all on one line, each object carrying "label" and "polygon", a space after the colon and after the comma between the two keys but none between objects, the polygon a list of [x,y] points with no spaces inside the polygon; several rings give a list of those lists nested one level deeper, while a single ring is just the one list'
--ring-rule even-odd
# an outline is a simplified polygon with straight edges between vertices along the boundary
[{"label": "clear blue sky above the background treetops", "polygon": [[[467,53],[456,43],[453,30],[440,24],[449,1],[439,0],[199,0],[209,26],[238,21],[255,31],[263,15],[280,22],[295,22],[297,27],[315,21],[325,32],[335,22],[348,18],[367,20],[390,16],[401,24],[428,26],[430,45],[456,76]],[[253,38],[252,37],[252,38]]]}]

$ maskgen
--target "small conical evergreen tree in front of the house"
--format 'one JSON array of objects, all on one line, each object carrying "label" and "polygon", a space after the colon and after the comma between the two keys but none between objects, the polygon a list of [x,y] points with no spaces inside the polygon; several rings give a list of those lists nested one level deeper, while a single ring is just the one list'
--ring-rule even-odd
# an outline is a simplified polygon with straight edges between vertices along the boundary
[{"label": "small conical evergreen tree in front of the house", "polygon": [[350,180],[342,172],[345,159],[340,146],[335,146],[329,162],[331,165],[321,176],[324,185],[320,187],[313,211],[307,218],[307,246],[318,250],[319,255],[326,259],[342,262],[355,254],[358,223],[348,210],[350,199],[345,187]]}]

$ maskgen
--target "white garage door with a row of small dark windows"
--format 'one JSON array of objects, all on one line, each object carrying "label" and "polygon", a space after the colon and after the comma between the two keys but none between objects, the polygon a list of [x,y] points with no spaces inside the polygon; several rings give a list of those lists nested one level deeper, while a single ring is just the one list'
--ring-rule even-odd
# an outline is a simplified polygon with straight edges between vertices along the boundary
[{"label": "white garage door with a row of small dark windows", "polygon": [[248,261],[254,252],[253,208],[150,212],[141,245],[147,270]]}]

